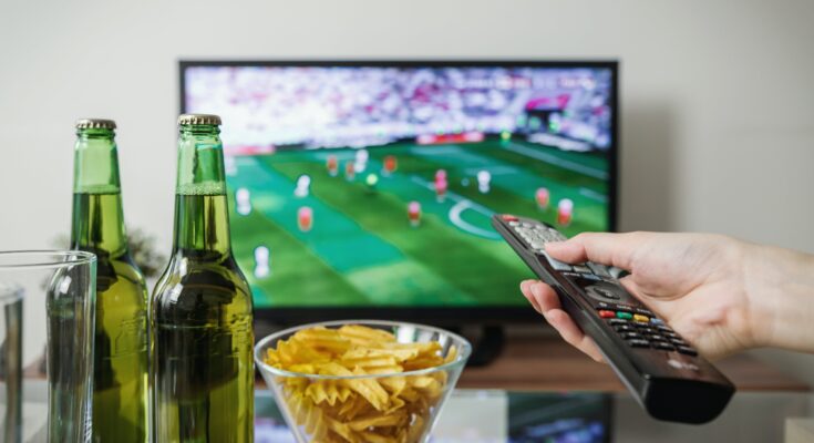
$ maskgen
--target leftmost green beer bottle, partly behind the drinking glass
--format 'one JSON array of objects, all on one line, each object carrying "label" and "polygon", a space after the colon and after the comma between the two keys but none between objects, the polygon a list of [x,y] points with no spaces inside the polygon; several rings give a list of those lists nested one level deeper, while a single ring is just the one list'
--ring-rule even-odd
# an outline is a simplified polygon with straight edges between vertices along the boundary
[{"label": "leftmost green beer bottle, partly behind the drinking glass", "polygon": [[111,120],[76,122],[71,247],[99,260],[93,441],[144,443],[147,290],[127,250],[115,127]]}]

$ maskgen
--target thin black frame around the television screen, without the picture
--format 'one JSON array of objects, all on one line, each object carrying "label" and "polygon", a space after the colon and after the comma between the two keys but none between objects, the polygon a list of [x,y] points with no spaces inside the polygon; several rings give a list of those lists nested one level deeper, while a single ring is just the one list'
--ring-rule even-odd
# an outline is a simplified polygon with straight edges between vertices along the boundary
[{"label": "thin black frame around the television screen, without the picture", "polygon": [[[607,69],[611,73],[611,134],[610,148],[608,150],[608,231],[617,230],[617,217],[619,208],[619,61],[614,59],[595,60],[519,60],[519,59],[493,59],[493,60],[440,60],[440,59],[269,59],[269,60],[179,60],[178,61],[178,109],[181,113],[186,110],[186,78],[188,68],[197,66],[374,66],[374,68],[548,68],[548,69]],[[529,274],[530,276],[530,274]],[[519,282],[518,282],[519,284]],[[519,290],[517,290],[519,292]],[[519,297],[519,295],[517,295]],[[357,319],[382,319],[382,320],[418,320],[432,322],[441,326],[458,326],[464,322],[480,323],[506,323],[506,322],[530,322],[539,321],[539,315],[526,306],[482,306],[482,307],[279,307],[279,308],[255,308],[255,318],[271,323],[302,323],[308,321]]]}]

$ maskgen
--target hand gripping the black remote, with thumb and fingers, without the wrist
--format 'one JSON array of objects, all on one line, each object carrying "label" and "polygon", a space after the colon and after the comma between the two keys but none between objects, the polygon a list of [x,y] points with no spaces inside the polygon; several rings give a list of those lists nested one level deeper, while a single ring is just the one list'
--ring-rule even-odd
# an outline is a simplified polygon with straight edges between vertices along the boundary
[{"label": "hand gripping the black remote, with thumb and fingers, without the wrist", "polygon": [[[746,258],[758,248],[719,235],[656,233],[580,234],[546,245],[561,261],[628,270],[620,280],[625,288],[711,359],[766,342],[760,333],[765,328],[756,324],[769,318],[755,318],[756,305],[746,290]],[[561,310],[553,288],[526,280],[521,290],[568,343],[602,361],[594,340]]]}]

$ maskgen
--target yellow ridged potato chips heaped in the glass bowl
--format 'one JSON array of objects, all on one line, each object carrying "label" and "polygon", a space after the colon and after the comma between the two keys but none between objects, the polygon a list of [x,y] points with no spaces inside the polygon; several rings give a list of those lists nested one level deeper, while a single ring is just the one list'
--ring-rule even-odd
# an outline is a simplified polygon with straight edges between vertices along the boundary
[{"label": "yellow ridged potato chips heaped in the glass bowl", "polygon": [[446,372],[400,375],[455,360],[437,342],[399,343],[384,330],[359,324],[316,327],[269,349],[275,368],[351,379],[278,377],[291,419],[317,443],[414,443],[446,391]]}]

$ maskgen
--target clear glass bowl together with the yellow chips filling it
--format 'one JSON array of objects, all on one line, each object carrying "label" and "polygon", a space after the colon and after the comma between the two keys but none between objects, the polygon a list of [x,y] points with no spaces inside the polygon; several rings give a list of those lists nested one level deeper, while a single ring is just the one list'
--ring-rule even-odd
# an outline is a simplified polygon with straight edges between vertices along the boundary
[{"label": "clear glass bowl together with the yellow chips filling it", "polygon": [[471,352],[429,326],[328,321],[264,338],[255,361],[299,443],[423,443]]}]

